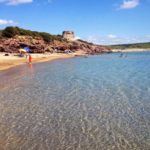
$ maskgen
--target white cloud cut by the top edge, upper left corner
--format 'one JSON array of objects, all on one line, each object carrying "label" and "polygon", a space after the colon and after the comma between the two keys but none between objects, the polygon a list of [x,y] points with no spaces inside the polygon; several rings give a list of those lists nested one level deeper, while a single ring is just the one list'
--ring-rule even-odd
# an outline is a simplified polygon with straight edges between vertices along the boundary
[{"label": "white cloud cut by the top edge, upper left corner", "polygon": [[19,5],[32,2],[33,0],[0,0],[0,3],[5,3],[7,5]]}]

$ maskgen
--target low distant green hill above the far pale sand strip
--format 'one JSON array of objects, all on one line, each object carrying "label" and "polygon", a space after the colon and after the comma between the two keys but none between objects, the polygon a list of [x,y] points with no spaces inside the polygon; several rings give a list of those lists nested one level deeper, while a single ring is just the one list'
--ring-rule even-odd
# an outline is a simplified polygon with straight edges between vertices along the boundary
[{"label": "low distant green hill above the far pale sand strip", "polygon": [[147,43],[135,43],[135,44],[120,44],[120,45],[111,45],[108,46],[111,49],[133,49],[133,48],[138,48],[138,49],[148,49],[150,48],[150,42]]}]

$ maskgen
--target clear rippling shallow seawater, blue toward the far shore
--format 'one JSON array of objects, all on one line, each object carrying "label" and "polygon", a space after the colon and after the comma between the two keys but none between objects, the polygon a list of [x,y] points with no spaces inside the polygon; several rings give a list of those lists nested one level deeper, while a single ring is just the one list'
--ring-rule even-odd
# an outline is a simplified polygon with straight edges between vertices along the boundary
[{"label": "clear rippling shallow seawater, blue toward the far shore", "polygon": [[150,150],[150,52],[0,72],[0,150]]}]

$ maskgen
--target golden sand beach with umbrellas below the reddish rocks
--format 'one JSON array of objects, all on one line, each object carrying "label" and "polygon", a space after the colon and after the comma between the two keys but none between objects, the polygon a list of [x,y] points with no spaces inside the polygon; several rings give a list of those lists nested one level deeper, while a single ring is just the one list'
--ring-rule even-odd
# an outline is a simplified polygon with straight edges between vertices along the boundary
[{"label": "golden sand beach with umbrellas below the reddish rocks", "polygon": [[[85,53],[83,51],[78,51],[76,53],[69,53],[69,54],[45,53],[45,54],[31,54],[31,55],[32,55],[32,62],[36,63],[36,62],[52,61],[55,59],[71,58],[75,56],[84,56]],[[25,63],[28,63],[28,58],[26,57],[19,57],[17,56],[17,54],[9,54],[9,56],[5,56],[5,53],[0,53],[0,71]]]}]

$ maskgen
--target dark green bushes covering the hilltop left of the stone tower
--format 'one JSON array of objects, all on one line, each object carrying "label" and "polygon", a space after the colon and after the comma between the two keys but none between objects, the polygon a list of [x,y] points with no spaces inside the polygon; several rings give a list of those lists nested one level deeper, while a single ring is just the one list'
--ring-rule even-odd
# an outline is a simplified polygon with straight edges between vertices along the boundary
[{"label": "dark green bushes covering the hilltop left of the stone tower", "polygon": [[12,38],[16,35],[23,35],[23,36],[32,36],[32,37],[42,37],[43,40],[47,43],[52,42],[54,40],[57,41],[65,41],[60,35],[51,35],[46,32],[37,32],[31,30],[25,30],[19,27],[6,27],[4,30],[0,31],[0,36],[6,38]]}]

